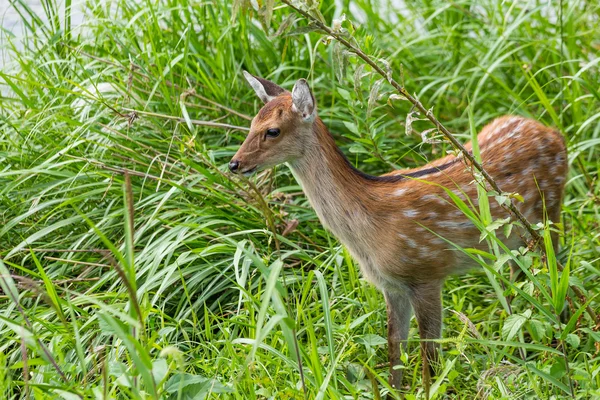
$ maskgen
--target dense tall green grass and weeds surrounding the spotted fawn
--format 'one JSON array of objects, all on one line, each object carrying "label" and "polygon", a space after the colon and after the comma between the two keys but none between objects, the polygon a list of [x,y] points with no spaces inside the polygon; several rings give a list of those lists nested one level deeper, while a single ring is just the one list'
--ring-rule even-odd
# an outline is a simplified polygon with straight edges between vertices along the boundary
[{"label": "dense tall green grass and weeds surrounding the spotted fawn", "polygon": [[[387,393],[382,295],[286,167],[250,181],[227,173],[260,107],[241,71],[287,88],[308,78],[321,117],[368,172],[451,147],[421,141],[426,121],[406,135],[407,115],[423,116],[289,7],[271,17],[268,0],[233,3],[88,0],[78,27],[55,2],[43,18],[12,3],[25,37],[2,32],[12,61],[0,73],[1,398]],[[539,250],[502,255],[502,223],[488,221],[490,253],[473,255],[488,267],[445,285],[432,396],[600,396],[600,333],[584,311],[600,312],[600,6],[394,3],[308,5],[461,140],[514,113],[557,127],[569,148],[562,220],[538,227],[561,231],[567,269]],[[509,258],[528,276],[509,282]],[[415,398],[414,322],[410,337]]]}]

